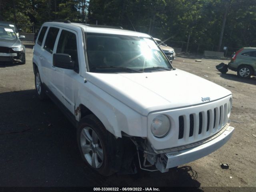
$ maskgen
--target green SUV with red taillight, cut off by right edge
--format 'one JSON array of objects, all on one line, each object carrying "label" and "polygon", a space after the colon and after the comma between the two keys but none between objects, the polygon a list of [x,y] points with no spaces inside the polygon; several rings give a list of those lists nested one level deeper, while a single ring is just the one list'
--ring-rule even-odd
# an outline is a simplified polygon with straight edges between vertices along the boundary
[{"label": "green SUV with red taillight, cut off by right edge", "polygon": [[238,77],[241,78],[250,78],[250,76],[256,75],[256,48],[245,47],[238,50],[232,55],[228,68],[236,71]]}]

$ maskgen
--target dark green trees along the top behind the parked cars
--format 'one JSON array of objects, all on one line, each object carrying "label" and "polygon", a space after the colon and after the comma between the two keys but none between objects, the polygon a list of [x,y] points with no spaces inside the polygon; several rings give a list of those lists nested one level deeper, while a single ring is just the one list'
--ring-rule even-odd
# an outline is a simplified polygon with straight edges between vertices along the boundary
[{"label": "dark green trees along the top behind the parked cars", "polygon": [[122,26],[161,39],[256,47],[256,0],[0,0],[0,20],[63,19]]}]

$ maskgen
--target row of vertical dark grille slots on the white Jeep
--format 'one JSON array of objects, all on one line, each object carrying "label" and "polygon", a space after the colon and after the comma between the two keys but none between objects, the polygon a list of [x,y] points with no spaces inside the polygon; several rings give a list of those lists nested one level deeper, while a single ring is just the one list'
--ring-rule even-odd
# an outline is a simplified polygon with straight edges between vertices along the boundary
[{"label": "row of vertical dark grille slots on the white Jeep", "polygon": [[187,140],[198,135],[205,136],[220,130],[227,122],[227,104],[214,109],[179,116],[178,139]]}]

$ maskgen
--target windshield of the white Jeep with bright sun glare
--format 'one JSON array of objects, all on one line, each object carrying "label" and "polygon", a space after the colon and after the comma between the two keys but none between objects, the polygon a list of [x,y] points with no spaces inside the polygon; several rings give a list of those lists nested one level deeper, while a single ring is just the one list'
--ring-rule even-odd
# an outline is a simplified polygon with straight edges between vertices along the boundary
[{"label": "windshield of the white Jeep with bright sun glare", "polygon": [[86,47],[90,72],[152,72],[172,69],[170,62],[151,38],[87,33]]}]

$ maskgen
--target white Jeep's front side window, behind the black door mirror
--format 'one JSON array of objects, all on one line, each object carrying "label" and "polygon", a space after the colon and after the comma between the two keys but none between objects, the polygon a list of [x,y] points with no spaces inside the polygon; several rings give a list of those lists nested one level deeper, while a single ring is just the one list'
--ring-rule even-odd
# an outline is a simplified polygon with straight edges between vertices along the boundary
[{"label": "white Jeep's front side window, behind the black door mirror", "polygon": [[66,30],[62,30],[56,53],[69,54],[71,56],[71,60],[75,62],[75,65],[78,68],[76,34]]}]

